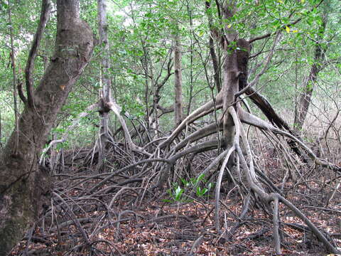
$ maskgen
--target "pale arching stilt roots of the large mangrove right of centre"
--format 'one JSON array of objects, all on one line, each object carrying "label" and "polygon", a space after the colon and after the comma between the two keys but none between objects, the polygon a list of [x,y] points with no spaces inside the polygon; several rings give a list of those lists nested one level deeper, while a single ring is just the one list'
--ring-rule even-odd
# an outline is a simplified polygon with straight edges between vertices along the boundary
[{"label": "pale arching stilt roots of the large mangrove right of centre", "polygon": [[[202,112],[196,112],[196,117],[202,116]],[[255,117],[252,114],[249,114],[247,112],[244,112],[240,107],[234,110],[234,107],[228,107],[225,114],[229,114],[234,122],[234,128],[235,128],[235,134],[234,134],[234,140],[233,143],[227,146],[227,149],[223,151],[219,156],[217,156],[207,168],[202,171],[202,174],[206,174],[210,169],[213,168],[216,164],[218,164],[222,159],[224,161],[222,162],[222,166],[220,167],[220,171],[217,177],[217,185],[215,188],[215,228],[219,232],[220,230],[220,221],[219,221],[219,212],[220,212],[220,187],[222,183],[222,176],[224,174],[224,171],[227,169],[227,162],[229,161],[229,158],[231,157],[232,153],[234,151],[237,151],[237,158],[240,161],[240,167],[242,167],[242,170],[244,171],[244,175],[246,176],[247,180],[247,186],[251,188],[251,191],[253,191],[256,195],[256,197],[259,197],[261,203],[264,203],[267,209],[270,210],[272,213],[272,222],[273,222],[273,236],[274,236],[274,250],[276,251],[276,254],[281,254],[281,236],[279,233],[279,223],[280,223],[280,216],[278,214],[278,205],[279,203],[283,203],[286,205],[289,209],[295,213],[298,218],[301,218],[306,225],[312,230],[312,232],[316,235],[318,240],[323,242],[325,247],[329,252],[332,253],[338,253],[337,249],[328,241],[327,238],[325,238],[325,235],[316,228],[313,223],[299,210],[296,208],[296,206],[293,206],[292,203],[286,200],[283,196],[281,196],[279,193],[266,193],[264,188],[261,186],[261,182],[259,181],[259,178],[256,175],[255,167],[254,167],[254,161],[251,154],[251,148],[249,146],[249,142],[247,141],[247,135],[244,131],[244,128],[242,127],[242,122],[245,122],[247,124],[251,124],[252,126],[259,127],[260,129],[269,130],[271,132],[274,132],[276,134],[281,134],[285,137],[289,137],[290,139],[293,139],[298,145],[300,145],[307,153],[308,155],[314,159],[315,162],[320,163],[321,165],[327,165],[330,166],[330,164],[326,164],[323,161],[320,161],[313,152],[308,148],[308,146],[305,146],[301,141],[299,141],[296,137],[293,137],[293,135],[289,134],[288,132],[283,132],[280,129],[277,129],[276,127],[273,127],[271,124],[264,122],[263,120],[259,119],[258,117]],[[191,120],[194,119],[192,116],[190,118]],[[183,129],[185,122],[183,122],[183,126],[179,126],[178,129]],[[188,146],[190,143],[196,142],[198,139],[201,139],[202,137],[207,136],[207,134],[212,134],[214,129],[216,129],[215,125],[210,124],[209,126],[202,129],[203,135],[200,134],[200,132],[194,132],[192,135],[186,137],[183,139],[182,142],[180,142],[178,145],[176,145],[173,148],[173,153],[168,155],[168,160],[174,164],[176,160],[180,159],[181,157],[190,154],[195,153],[198,151],[207,151],[210,149],[217,148],[219,142],[217,140],[211,140],[208,142],[203,142],[201,144],[197,144],[195,146],[190,146],[186,149],[183,149],[185,146]],[[176,132],[173,132],[173,134],[166,139],[166,141],[159,146],[160,149],[163,148],[165,145],[171,144],[173,139],[175,138],[175,134],[178,132],[178,129],[176,129]],[[242,139],[242,144],[244,146],[245,152],[242,151],[239,138]],[[180,149],[183,149],[182,151],[179,151]],[[179,151],[178,153],[174,154],[176,151]],[[247,156],[247,159],[245,158]],[[247,163],[248,161],[248,163]],[[239,167],[238,167],[239,168]],[[168,176],[168,171],[163,169],[161,173],[164,175],[163,177]],[[240,170],[237,170],[238,173],[240,173]],[[258,171],[259,172],[259,171]]]}]

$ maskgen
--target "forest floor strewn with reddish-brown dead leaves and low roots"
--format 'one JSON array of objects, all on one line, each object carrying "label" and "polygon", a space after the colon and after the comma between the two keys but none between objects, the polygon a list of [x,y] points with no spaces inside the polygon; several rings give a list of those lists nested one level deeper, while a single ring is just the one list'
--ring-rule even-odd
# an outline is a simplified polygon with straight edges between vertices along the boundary
[{"label": "forest floor strewn with reddish-brown dead leaves and low roots", "polygon": [[[186,197],[184,191],[185,199],[175,201],[167,192],[148,191],[141,180],[124,184],[114,178],[94,190],[105,174],[79,171],[55,176],[60,198],[53,198],[45,218],[11,255],[275,255],[271,216],[250,203],[239,218],[243,200],[226,183],[217,233],[213,191],[199,198]],[[286,198],[341,247],[340,193],[326,206],[337,184],[309,180],[294,188],[286,183]],[[283,206],[279,210],[282,255],[328,255],[301,219]]]}]

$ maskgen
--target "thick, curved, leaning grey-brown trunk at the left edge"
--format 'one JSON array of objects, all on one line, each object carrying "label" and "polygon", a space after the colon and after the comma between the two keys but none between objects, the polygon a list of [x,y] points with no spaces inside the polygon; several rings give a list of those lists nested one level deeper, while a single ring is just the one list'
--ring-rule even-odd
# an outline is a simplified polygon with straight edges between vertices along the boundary
[{"label": "thick, curved, leaning grey-brown trunk at the left edge", "polygon": [[[80,19],[78,0],[57,1],[55,54],[26,104],[0,158],[0,255],[21,240],[38,217],[50,190],[50,176],[38,170],[39,155],[72,85],[90,60],[93,35]],[[48,203],[48,201],[45,201]]]}]

